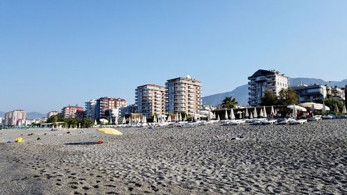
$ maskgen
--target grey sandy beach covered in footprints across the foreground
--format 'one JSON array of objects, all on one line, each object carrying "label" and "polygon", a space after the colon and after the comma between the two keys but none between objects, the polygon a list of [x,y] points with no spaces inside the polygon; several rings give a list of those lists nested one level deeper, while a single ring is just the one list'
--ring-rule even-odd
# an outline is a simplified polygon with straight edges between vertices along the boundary
[{"label": "grey sandy beach covered in footprints across the foreground", "polygon": [[346,119],[119,130],[0,130],[0,194],[347,194]]}]

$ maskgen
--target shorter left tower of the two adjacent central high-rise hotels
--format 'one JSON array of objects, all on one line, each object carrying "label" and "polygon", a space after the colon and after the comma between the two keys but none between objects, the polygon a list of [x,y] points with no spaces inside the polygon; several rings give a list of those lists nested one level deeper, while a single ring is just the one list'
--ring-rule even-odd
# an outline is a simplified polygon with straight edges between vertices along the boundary
[{"label": "shorter left tower of the two adjacent central high-rise hotels", "polygon": [[137,113],[146,117],[161,115],[165,112],[165,87],[142,85],[135,90],[135,107]]}]

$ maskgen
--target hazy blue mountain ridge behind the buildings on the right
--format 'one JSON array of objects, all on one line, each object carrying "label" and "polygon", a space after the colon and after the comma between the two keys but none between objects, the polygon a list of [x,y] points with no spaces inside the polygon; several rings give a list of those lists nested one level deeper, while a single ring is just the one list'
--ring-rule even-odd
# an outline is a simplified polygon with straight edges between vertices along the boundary
[{"label": "hazy blue mountain ridge behind the buildings on the right", "polygon": [[[289,78],[289,84],[291,86],[300,85],[301,82],[303,82],[304,85],[312,85],[314,83],[331,86],[336,85],[337,87],[344,87],[347,85],[347,79],[341,81],[331,81],[329,83],[328,81],[319,78]],[[231,92],[204,96],[203,103],[205,105],[217,106],[221,104],[221,101],[223,101],[226,96],[232,96],[235,98],[239,105],[246,105],[248,103],[248,85],[236,87],[235,90],[232,90]]]}]

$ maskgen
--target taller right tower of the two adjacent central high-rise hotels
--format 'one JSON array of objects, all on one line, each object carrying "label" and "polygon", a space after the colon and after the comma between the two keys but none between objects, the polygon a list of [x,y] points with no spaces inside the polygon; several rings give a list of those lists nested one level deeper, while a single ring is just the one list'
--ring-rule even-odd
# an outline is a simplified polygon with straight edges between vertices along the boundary
[{"label": "taller right tower of the two adjacent central high-rise hotels", "polygon": [[201,82],[187,76],[167,80],[166,105],[168,113],[185,112],[193,115],[201,110],[202,85]]}]

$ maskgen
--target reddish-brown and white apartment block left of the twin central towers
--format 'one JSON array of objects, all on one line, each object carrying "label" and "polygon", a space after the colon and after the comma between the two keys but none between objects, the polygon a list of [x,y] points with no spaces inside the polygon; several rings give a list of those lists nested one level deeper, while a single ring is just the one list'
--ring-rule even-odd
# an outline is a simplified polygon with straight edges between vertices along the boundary
[{"label": "reddish-brown and white apartment block left of the twin central towers", "polygon": [[96,100],[95,107],[95,119],[105,119],[106,110],[112,110],[113,108],[126,107],[126,100],[112,97],[102,97]]}]

